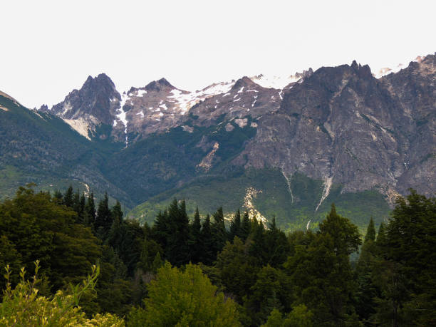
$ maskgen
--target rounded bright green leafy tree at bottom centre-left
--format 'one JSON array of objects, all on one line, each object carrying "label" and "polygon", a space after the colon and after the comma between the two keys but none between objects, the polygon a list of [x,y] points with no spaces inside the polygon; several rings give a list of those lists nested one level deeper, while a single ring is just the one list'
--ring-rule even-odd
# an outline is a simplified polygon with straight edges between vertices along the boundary
[{"label": "rounded bright green leafy tree at bottom centre-left", "polygon": [[185,271],[169,263],[158,269],[144,302],[145,309],[130,313],[128,326],[240,326],[236,304],[192,264]]}]

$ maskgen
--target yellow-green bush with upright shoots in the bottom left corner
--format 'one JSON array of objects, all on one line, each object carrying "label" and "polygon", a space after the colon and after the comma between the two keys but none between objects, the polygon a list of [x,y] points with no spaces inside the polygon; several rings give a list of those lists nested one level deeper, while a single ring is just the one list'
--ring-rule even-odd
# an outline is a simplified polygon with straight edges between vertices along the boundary
[{"label": "yellow-green bush with upright shoots in the bottom left corner", "polygon": [[124,326],[123,320],[109,313],[89,319],[78,306],[82,294],[95,287],[98,267],[93,267],[93,274],[88,275],[82,285],[73,286],[71,294],[58,291],[53,299],[38,295],[38,268],[36,261],[35,276],[31,281],[25,279],[25,269],[21,269],[21,281],[12,289],[9,266],[6,266],[8,283],[0,303],[0,326]]}]

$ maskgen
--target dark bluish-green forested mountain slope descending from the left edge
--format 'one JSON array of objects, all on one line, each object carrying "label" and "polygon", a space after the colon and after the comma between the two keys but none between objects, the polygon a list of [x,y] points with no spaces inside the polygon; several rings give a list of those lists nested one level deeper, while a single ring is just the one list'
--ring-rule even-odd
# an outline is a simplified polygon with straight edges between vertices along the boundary
[{"label": "dark bluish-green forested mountain slope descending from the left edge", "polygon": [[126,194],[103,177],[98,167],[116,147],[90,142],[61,118],[28,110],[0,94],[1,197],[36,182],[41,189],[63,190],[69,184],[96,194],[111,194],[128,202]]}]

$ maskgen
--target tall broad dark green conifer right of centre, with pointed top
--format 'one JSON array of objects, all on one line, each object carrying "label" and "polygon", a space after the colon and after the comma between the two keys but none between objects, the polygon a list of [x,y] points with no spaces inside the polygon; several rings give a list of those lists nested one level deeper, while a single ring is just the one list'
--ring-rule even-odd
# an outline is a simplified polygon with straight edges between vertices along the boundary
[{"label": "tall broad dark green conifer right of centre, with pointed top", "polygon": [[350,314],[355,281],[349,255],[359,245],[358,228],[338,215],[332,204],[311,243],[297,246],[296,254],[289,256],[286,270],[299,302],[313,312],[316,326],[346,326],[355,319]]}]

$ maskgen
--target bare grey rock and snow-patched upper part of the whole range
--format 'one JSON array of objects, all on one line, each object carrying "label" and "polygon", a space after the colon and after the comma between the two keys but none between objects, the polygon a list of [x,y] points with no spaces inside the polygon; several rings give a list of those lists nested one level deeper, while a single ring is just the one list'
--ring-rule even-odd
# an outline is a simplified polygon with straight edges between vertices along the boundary
[{"label": "bare grey rock and snow-patched upper part of the whole range", "polygon": [[[273,167],[286,178],[299,172],[323,180],[321,202],[333,184],[342,192],[378,190],[393,199],[409,187],[426,194],[436,190],[435,79],[434,55],[382,78],[353,62],[282,80],[244,77],[195,92],[162,78],[120,95],[100,74],[51,113],[82,135],[112,136],[129,147],[178,127],[192,133],[217,126],[232,133],[249,124],[256,134],[232,165]],[[98,134],[101,125],[108,128]],[[206,151],[197,167],[207,162],[199,174],[214,167],[209,153],[214,147],[217,153],[226,151],[215,142],[213,135],[203,135],[197,144]]]}]

